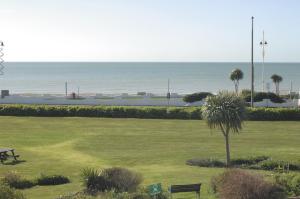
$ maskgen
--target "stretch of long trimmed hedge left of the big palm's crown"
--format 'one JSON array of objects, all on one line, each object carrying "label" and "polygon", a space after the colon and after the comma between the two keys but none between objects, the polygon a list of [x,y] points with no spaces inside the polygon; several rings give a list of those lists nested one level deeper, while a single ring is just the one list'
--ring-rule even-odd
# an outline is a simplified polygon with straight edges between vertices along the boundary
[{"label": "stretch of long trimmed hedge left of the big palm's crown", "polygon": [[0,115],[44,117],[200,119],[201,108],[72,105],[0,105]]}]

